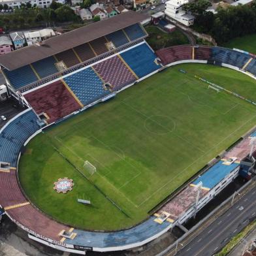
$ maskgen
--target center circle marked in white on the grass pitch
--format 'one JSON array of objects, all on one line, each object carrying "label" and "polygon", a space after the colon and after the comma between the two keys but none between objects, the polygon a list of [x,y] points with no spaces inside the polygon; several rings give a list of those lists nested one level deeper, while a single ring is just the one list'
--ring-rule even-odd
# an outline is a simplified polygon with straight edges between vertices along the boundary
[{"label": "center circle marked in white on the grass pitch", "polygon": [[146,118],[144,126],[150,133],[155,135],[165,135],[174,131],[176,123],[168,116],[154,115]]}]

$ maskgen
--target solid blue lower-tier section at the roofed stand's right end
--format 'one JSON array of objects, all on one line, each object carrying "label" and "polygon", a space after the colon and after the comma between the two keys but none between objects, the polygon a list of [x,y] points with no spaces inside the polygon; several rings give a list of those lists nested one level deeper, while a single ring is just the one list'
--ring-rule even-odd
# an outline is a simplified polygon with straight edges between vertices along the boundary
[{"label": "solid blue lower-tier section at the roofed stand's right end", "polygon": [[155,56],[146,43],[140,44],[127,52],[123,52],[121,57],[123,57],[125,62],[133,69],[139,78],[161,67],[155,64],[154,60],[157,56]]}]

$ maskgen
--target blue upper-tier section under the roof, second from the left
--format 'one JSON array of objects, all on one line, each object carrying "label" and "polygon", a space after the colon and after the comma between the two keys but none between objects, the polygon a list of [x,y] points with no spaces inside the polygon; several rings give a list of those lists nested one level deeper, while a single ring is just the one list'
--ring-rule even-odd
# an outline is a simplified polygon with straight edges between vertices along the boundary
[{"label": "blue upper-tier section under the roof, second from the left", "polygon": [[55,65],[56,62],[56,59],[50,56],[32,63],[32,66],[34,67],[35,71],[37,71],[37,74],[39,74],[40,78],[44,78],[58,72]]}]

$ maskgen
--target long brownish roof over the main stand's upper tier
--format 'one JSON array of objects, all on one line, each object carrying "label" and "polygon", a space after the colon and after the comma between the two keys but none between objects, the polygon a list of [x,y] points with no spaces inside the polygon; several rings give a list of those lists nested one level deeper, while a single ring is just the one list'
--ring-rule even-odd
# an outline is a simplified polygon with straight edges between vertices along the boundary
[{"label": "long brownish roof over the main stand's upper tier", "polygon": [[85,42],[103,37],[119,29],[128,27],[145,20],[143,14],[138,12],[123,12],[108,20],[95,22],[79,29],[74,29],[63,35],[51,37],[42,42],[40,46],[33,45],[21,48],[0,56],[0,64],[8,70],[18,69],[24,65],[28,65],[45,57],[52,56],[59,52],[69,50]]}]

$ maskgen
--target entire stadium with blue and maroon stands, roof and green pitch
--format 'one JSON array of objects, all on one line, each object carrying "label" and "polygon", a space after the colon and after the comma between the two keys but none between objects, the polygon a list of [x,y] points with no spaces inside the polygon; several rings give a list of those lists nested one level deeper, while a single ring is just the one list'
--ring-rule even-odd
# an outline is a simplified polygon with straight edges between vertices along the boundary
[{"label": "entire stadium with blue and maroon stands, roof and green pitch", "polygon": [[0,128],[0,206],[29,238],[82,255],[144,246],[250,178],[256,57],[154,52],[144,19],[0,56],[0,97],[20,103]]}]

